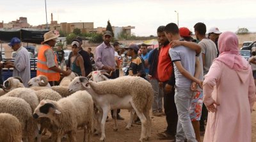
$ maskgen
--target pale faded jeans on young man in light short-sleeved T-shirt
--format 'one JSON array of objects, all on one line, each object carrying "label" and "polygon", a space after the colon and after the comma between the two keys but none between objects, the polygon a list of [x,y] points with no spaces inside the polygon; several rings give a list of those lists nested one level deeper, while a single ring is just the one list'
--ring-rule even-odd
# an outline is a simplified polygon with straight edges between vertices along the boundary
[{"label": "pale faded jeans on young man in light short-sleeved T-shirt", "polygon": [[184,141],[196,142],[195,131],[189,117],[189,106],[193,99],[193,91],[190,88],[175,88],[175,104],[179,116],[177,124],[176,142]]}]

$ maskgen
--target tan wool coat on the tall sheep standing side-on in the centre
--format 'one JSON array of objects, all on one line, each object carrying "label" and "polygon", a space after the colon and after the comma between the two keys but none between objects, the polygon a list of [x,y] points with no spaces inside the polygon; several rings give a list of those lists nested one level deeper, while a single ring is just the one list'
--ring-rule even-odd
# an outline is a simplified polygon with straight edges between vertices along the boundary
[{"label": "tan wool coat on the tall sheep standing side-on in the centre", "polygon": [[98,94],[115,94],[119,97],[132,95],[136,108],[143,112],[152,106],[153,89],[150,83],[141,77],[124,76],[95,83],[90,81],[90,86]]}]

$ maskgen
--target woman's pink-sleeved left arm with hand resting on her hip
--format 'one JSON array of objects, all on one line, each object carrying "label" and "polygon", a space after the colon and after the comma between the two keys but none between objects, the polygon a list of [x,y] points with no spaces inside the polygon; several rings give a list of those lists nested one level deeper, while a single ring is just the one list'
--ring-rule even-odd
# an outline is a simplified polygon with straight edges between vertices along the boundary
[{"label": "woman's pink-sleeved left arm with hand resting on her hip", "polygon": [[[214,104],[219,105],[216,100],[212,99],[212,91],[216,82],[220,80],[221,73],[223,72],[220,63],[214,61],[207,75],[205,75],[205,80],[203,83],[204,91],[204,104],[208,111],[216,112],[216,107]],[[254,94],[255,95],[255,94]]]}]

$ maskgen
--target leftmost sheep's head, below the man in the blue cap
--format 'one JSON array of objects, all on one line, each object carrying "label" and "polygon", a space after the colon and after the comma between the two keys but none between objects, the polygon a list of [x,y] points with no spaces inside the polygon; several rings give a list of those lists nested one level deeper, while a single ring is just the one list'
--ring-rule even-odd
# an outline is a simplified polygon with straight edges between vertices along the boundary
[{"label": "leftmost sheep's head, below the man in the blue cap", "polygon": [[9,77],[3,83],[3,90],[11,91],[15,88],[24,88],[23,81],[20,77]]}]

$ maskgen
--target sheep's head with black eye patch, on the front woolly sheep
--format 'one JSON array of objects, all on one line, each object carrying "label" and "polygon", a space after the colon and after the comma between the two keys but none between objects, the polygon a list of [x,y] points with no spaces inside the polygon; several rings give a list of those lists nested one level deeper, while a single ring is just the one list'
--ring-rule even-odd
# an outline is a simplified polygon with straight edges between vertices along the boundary
[{"label": "sheep's head with black eye patch, on the front woolly sheep", "polygon": [[42,100],[36,107],[33,118],[47,117],[51,119],[54,117],[54,114],[61,114],[61,112],[56,109],[56,106],[52,102]]}]

